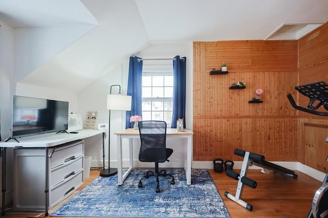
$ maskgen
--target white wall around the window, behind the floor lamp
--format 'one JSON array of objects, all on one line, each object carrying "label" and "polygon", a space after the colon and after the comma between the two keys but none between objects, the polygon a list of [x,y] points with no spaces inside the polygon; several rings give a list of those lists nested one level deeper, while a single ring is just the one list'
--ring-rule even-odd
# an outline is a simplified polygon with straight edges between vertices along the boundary
[{"label": "white wall around the window, behind the floor lamp", "polygon": [[[138,56],[140,58],[174,58],[176,55],[180,57],[187,57],[187,96],[186,96],[186,125],[187,128],[192,129],[192,74],[193,74],[193,54],[192,54],[192,42],[190,43],[156,43],[150,44],[145,49],[140,51],[138,54],[133,56]],[[122,63],[121,66],[117,66],[115,69],[109,71],[106,76],[98,80],[96,83],[89,86],[87,89],[78,93],[78,112],[82,114],[84,118],[88,110],[97,110],[97,124],[109,122],[108,115],[109,111],[106,109],[106,95],[109,94],[110,86],[119,84],[122,88],[122,94],[127,93],[127,83],[128,83],[128,71],[129,71],[129,57],[127,57],[127,62]],[[144,61],[144,64],[146,60]],[[118,91],[118,88],[113,88],[112,93]],[[110,166],[117,166],[117,155],[116,155],[116,137],[115,132],[125,129],[125,112],[121,111],[111,111],[111,126],[110,126]],[[83,120],[84,121],[84,120]],[[108,135],[108,130],[107,130]],[[101,166],[103,164],[103,148],[101,137],[96,139],[90,139],[86,143],[85,155],[92,156],[92,166]],[[176,167],[183,167],[183,162],[181,160],[185,159],[184,147],[179,146],[184,144],[184,139],[168,139],[167,146],[174,149],[174,153],[170,158],[170,163],[175,163]],[[127,166],[128,159],[128,140],[123,140],[123,160],[124,167]],[[134,152],[133,156],[137,166],[145,166],[144,163],[138,162],[139,153],[139,141],[134,140]],[[108,138],[105,141],[105,165],[108,166]]]}]

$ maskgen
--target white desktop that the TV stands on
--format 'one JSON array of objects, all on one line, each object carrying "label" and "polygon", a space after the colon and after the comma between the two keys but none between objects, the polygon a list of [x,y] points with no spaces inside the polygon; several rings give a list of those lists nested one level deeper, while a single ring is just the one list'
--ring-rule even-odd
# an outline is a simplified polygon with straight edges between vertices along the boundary
[{"label": "white desktop that the TV stands on", "polygon": [[59,144],[64,144],[70,141],[80,140],[88,138],[94,135],[104,133],[106,130],[79,130],[78,133],[46,133],[38,134],[32,136],[24,136],[16,138],[18,142],[10,140],[7,142],[0,142],[0,147],[14,148],[14,147],[24,147],[24,148],[47,148],[58,146]]}]

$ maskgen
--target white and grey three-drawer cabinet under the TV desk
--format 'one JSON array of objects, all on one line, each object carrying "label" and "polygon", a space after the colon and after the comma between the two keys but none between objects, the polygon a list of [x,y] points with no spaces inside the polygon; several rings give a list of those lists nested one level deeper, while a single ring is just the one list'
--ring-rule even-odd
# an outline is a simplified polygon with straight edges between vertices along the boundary
[{"label": "white and grey three-drawer cabinet under the TV desk", "polygon": [[[84,141],[46,148],[14,150],[14,211],[44,211],[49,190],[49,209],[83,184]],[[48,161],[48,164],[46,163]],[[46,175],[48,165],[49,174]],[[46,187],[46,179],[49,187]]]}]

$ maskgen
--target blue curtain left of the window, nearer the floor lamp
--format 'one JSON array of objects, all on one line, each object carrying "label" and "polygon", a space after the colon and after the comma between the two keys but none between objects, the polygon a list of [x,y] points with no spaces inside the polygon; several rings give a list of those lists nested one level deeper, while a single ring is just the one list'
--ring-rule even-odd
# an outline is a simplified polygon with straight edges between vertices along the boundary
[{"label": "blue curtain left of the window, nearer the floor lamp", "polygon": [[127,111],[126,129],[133,128],[134,123],[130,123],[130,116],[142,115],[142,60],[138,57],[130,57],[128,95],[132,96],[131,111]]}]

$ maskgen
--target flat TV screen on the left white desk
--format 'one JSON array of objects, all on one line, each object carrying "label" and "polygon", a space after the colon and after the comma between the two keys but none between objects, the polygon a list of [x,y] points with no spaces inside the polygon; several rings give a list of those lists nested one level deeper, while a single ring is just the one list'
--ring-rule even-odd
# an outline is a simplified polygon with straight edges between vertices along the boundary
[{"label": "flat TV screen on the left white desk", "polygon": [[13,96],[12,136],[66,131],[68,102]]}]

